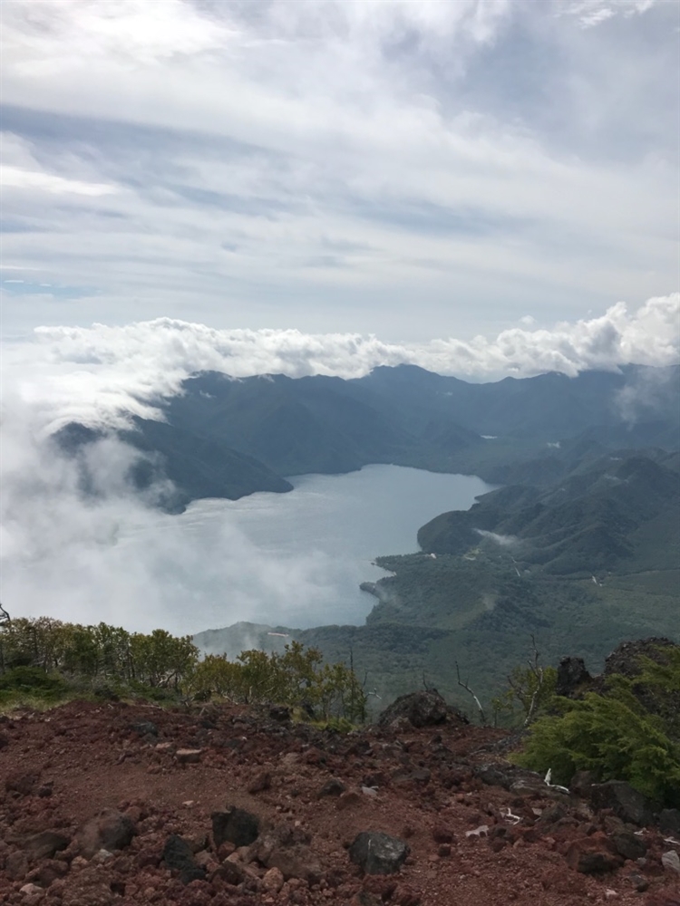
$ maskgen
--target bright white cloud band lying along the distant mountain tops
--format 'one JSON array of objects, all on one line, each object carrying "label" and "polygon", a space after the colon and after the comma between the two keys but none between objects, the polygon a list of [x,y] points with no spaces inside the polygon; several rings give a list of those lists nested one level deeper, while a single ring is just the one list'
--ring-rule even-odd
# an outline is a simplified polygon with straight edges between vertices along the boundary
[{"label": "bright white cloud band lying along the distant mountain tops", "polygon": [[635,310],[620,302],[600,317],[551,330],[516,327],[493,339],[413,346],[349,333],[215,330],[165,318],[120,327],[40,327],[29,342],[5,346],[5,394],[31,407],[41,429],[51,431],[71,419],[96,426],[120,424],[126,412],[153,417],[153,400],[176,393],[196,371],[356,378],[378,365],[409,363],[472,380],[544,371],[574,376],[628,362],[675,363],[679,317],[680,293],[674,293]]}]

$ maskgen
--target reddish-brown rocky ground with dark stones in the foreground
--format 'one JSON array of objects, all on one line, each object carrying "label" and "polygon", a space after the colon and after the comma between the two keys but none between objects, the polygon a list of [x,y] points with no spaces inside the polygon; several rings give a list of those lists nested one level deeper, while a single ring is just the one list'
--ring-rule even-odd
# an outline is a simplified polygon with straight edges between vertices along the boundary
[{"label": "reddish-brown rocky ground with dark stones in the foreground", "polygon": [[625,785],[563,793],[500,731],[404,716],[431,704],[349,735],[211,704],[0,718],[0,902],[680,906],[679,814],[646,825]]}]

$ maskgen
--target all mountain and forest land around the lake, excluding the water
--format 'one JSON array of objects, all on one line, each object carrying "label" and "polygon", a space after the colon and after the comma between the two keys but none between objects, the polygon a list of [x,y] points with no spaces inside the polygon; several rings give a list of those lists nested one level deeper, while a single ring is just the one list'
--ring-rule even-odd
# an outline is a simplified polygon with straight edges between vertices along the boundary
[{"label": "all mountain and forest land around the lake, excluding the water", "polygon": [[[376,708],[423,684],[467,706],[458,670],[488,706],[532,639],[544,663],[569,653],[596,665],[629,638],[677,639],[679,374],[627,366],[471,384],[414,366],[350,381],[206,372],[157,401],[164,421],[133,419],[120,437],[139,454],[135,487],[170,478],[170,512],[379,463],[501,486],[413,525],[413,553],[373,552],[390,574],[362,584],[375,599],[364,625],[194,634],[232,657],[296,639],[352,660]],[[73,426],[59,436],[76,458],[95,439]]]}]

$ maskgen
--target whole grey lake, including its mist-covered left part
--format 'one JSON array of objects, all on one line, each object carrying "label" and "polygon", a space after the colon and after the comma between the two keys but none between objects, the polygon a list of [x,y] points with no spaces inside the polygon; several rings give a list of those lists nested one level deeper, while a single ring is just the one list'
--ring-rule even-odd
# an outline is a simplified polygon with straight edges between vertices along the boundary
[{"label": "whole grey lake, including its mist-covered left part", "polygon": [[359,583],[384,574],[374,557],[417,550],[421,525],[491,489],[397,466],[292,482],[287,494],[199,500],[181,516],[129,495],[41,503],[14,554],[5,545],[3,601],[13,616],[182,635],[239,621],[359,624],[375,602]]}]

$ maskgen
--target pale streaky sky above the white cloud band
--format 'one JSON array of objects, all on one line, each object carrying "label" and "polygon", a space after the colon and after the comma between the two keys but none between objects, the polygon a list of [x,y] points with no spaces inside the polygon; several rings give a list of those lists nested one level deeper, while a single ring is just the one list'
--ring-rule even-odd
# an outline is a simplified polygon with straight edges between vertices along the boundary
[{"label": "pale streaky sky above the white cloud band", "polygon": [[1,7],[5,337],[470,342],[678,289],[675,2]]}]

